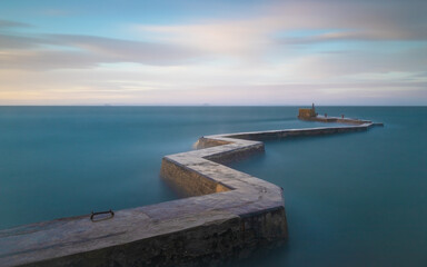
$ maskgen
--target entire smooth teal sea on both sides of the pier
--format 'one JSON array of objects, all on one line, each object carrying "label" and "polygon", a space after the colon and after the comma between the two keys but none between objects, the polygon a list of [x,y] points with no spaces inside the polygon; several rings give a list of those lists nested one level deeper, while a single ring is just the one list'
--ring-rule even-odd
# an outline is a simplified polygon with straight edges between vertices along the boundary
[{"label": "entire smooth teal sea on both sides of the pier", "polygon": [[[201,136],[336,125],[299,107],[0,107],[0,229],[179,198],[161,158]],[[289,239],[231,266],[427,266],[427,107],[317,107],[384,122],[266,141],[230,166],[284,188]]]}]

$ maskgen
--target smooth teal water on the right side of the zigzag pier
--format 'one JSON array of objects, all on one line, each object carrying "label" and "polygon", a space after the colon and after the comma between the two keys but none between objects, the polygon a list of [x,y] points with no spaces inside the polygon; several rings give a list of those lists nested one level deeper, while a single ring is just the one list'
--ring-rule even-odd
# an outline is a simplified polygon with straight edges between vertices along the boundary
[{"label": "smooth teal water on the right side of the zigzag pier", "polygon": [[266,142],[234,168],[284,188],[289,240],[237,266],[427,266],[427,108],[319,108],[385,122]]}]

